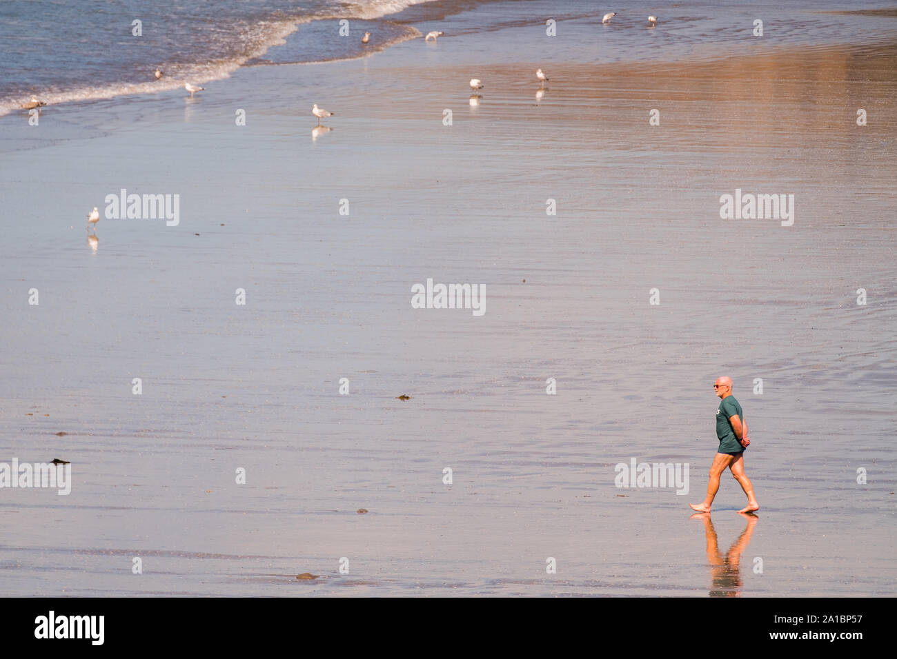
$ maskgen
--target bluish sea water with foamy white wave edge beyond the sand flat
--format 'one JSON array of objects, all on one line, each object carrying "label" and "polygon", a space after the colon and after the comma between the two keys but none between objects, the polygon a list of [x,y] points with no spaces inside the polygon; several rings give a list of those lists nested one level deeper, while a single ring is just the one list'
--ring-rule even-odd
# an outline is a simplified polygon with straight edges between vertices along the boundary
[{"label": "bluish sea water with foamy white wave edge beyond the sand flat", "polygon": [[[603,13],[585,0],[181,0],[164,8],[140,0],[6,0],[0,4],[0,117],[32,95],[59,105],[179,90],[185,82],[226,79],[241,65],[366,57],[447,25],[448,40],[480,36],[453,54],[456,64],[537,56],[553,65],[874,44],[893,38],[897,19],[874,2],[844,11],[835,0],[812,8],[636,1],[609,25],[601,24]],[[649,29],[649,13],[662,30]],[[556,23],[553,39],[545,38],[548,20]],[[762,35],[753,35],[756,21]],[[365,31],[371,35],[366,45]],[[161,80],[153,75],[157,68]]]}]

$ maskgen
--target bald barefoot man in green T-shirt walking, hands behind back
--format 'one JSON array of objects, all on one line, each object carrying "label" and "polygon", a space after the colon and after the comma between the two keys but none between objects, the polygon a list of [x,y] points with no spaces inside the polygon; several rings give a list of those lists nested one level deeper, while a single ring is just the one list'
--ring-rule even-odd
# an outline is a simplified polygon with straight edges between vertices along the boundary
[{"label": "bald barefoot man in green T-shirt walking, hands behind back", "polygon": [[750,513],[760,509],[760,504],[753,496],[753,485],[745,475],[745,448],[751,443],[747,438],[747,424],[745,423],[745,415],[741,411],[741,405],[738,404],[734,395],[732,395],[732,378],[719,377],[713,390],[722,400],[717,408],[717,438],[719,439],[719,447],[717,455],[713,458],[713,464],[710,465],[710,482],[707,483],[707,499],[698,505],[690,503],[692,510],[699,513],[709,513],[710,506],[713,504],[713,498],[717,496],[719,490],[719,476],[726,471],[728,467],[735,480],[741,485],[741,489],[745,490],[747,495],[747,506],[739,510],[739,513]]}]

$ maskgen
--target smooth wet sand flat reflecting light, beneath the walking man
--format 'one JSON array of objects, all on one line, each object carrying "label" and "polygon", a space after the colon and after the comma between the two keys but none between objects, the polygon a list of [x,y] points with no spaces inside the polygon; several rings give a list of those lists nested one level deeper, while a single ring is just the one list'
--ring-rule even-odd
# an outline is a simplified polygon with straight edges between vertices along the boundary
[{"label": "smooth wet sand flat reflecting light, beneath the walking man", "polygon": [[[893,595],[897,48],[555,62],[541,100],[538,62],[422,48],[0,122],[0,461],[74,475],[2,490],[3,593]],[[101,219],[92,254],[121,187],[180,224]],[[736,188],[794,225],[720,220]],[[427,278],[486,313],[411,308]],[[762,505],[737,577],[687,506],[724,374]],[[614,487],[631,457],[689,494]],[[724,477],[723,554],[743,498]]]}]

